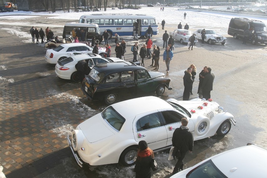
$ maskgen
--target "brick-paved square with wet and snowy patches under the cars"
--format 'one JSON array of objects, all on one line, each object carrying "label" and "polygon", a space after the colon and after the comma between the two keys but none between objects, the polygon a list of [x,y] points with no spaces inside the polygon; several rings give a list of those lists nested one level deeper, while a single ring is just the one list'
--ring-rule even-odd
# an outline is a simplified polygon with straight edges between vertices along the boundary
[{"label": "brick-paved square with wet and snowy patches under the cars", "polygon": [[[44,19],[39,20],[47,24],[45,17],[42,18]],[[57,22],[54,20],[49,23]],[[64,24],[65,21],[60,23]],[[166,30],[173,31],[174,28],[166,26]],[[6,28],[13,27],[10,25]],[[28,32],[29,29],[30,27],[20,27],[23,32]],[[60,31],[62,28],[55,29],[58,34]],[[152,39],[154,44],[159,44],[162,54],[163,30],[160,33]],[[8,37],[5,37],[7,34]],[[208,65],[215,75],[212,99],[233,114],[237,121],[236,126],[232,125],[230,132],[224,137],[215,135],[195,141],[193,153],[187,154],[184,160],[185,167],[249,142],[267,147],[267,72],[264,69],[267,63],[267,47],[243,45],[242,40],[225,36],[228,38],[225,45],[198,42],[192,51],[175,41],[170,73],[166,73],[171,78],[170,86],[173,90],[166,90],[161,98],[181,100],[184,71],[193,63],[198,74]],[[125,59],[132,60],[130,46],[135,41],[130,37],[121,39],[125,39],[128,44]],[[134,177],[134,166],[112,164],[81,169],[76,164],[68,148],[66,134],[106,106],[103,102],[88,101],[80,90],[80,83],[58,78],[54,71],[55,65],[47,64],[44,60],[44,47],[23,43],[23,40],[29,38],[19,38],[6,30],[0,31],[0,165],[3,165],[6,176]],[[145,39],[141,39],[139,43],[144,41]],[[114,48],[113,44],[113,52]],[[144,61],[148,70],[152,70],[150,62],[149,59]],[[165,73],[165,69],[161,57],[159,71]],[[196,77],[193,84],[194,94],[190,99],[198,96],[197,87]],[[138,107],[142,107],[142,103],[136,109]],[[168,151],[156,154],[155,159],[160,168],[153,172],[153,178],[170,177],[175,162],[168,161],[167,157]],[[231,160],[225,160],[226,164],[227,161]]]}]

